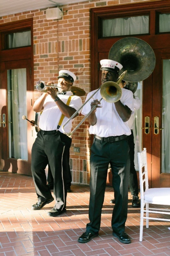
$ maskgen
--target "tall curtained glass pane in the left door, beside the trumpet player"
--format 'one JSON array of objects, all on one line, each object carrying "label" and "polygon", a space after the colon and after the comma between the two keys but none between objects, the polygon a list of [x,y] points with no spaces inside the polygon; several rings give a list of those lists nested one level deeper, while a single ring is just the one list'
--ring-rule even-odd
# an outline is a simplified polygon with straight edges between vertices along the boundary
[{"label": "tall curtained glass pane in the left door, beside the trumpet player", "polygon": [[8,141],[10,158],[28,160],[26,68],[7,70],[8,90]]}]

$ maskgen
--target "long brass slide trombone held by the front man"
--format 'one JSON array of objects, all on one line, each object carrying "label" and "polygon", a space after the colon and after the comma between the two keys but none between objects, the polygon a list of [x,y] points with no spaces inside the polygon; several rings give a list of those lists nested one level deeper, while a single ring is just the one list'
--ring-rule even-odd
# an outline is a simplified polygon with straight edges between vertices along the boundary
[{"label": "long brass slide trombone held by the front man", "polygon": [[93,98],[94,94],[96,94],[96,92],[98,92],[100,90],[100,94],[102,96],[102,98],[99,100],[101,101],[102,99],[106,100],[107,102],[116,102],[118,100],[120,100],[121,96],[122,96],[122,89],[120,88],[119,84],[122,81],[123,77],[126,75],[127,70],[125,70],[117,79],[116,82],[105,82],[104,84],[100,85],[100,87],[92,94],[92,96],[90,96],[90,98],[88,100],[85,101],[85,103],[66,121],[65,124],[63,124],[62,126],[62,131],[64,134],[66,134],[68,137],[71,138],[71,135],[78,129],[78,127],[85,121],[85,119],[92,113],[92,111],[96,108],[96,105],[93,106],[93,108],[89,111],[89,113],[80,121],[80,123],[71,131],[71,132],[66,132],[64,130],[64,127],[66,124],[68,124],[70,122],[71,119],[73,119],[78,111],[80,111],[80,109],[82,109],[84,107],[84,105]]}]

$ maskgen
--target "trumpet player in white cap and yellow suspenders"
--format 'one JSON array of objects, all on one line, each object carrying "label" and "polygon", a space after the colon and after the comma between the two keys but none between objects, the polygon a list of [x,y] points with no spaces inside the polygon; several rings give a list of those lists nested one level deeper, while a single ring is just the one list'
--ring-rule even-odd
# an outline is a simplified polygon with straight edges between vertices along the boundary
[{"label": "trumpet player in white cap and yellow suspenders", "polygon": [[[55,87],[47,87],[39,99],[33,105],[35,112],[42,112],[39,121],[40,131],[32,147],[31,171],[35,184],[38,202],[33,204],[33,210],[40,210],[44,205],[54,200],[45,175],[45,168],[49,163],[54,178],[54,208],[48,212],[55,217],[66,211],[67,186],[63,172],[62,160],[64,148],[71,145],[71,138],[63,134],[62,122],[66,122],[82,105],[80,97],[73,95],[71,87],[76,76],[68,70],[60,70],[58,76],[57,94]],[[78,116],[78,114],[77,114]],[[67,124],[70,132],[72,121]]]}]

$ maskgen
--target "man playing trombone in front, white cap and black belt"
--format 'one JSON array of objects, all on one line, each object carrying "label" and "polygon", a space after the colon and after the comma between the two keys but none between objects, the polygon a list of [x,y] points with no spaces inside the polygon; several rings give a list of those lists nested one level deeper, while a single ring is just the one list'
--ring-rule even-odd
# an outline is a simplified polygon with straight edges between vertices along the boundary
[{"label": "man playing trombone in front, white cap and black belt", "polygon": [[[101,84],[116,82],[122,65],[114,60],[101,60]],[[120,100],[109,103],[101,98],[100,90],[83,107],[82,114],[86,115],[97,104],[88,116],[90,124],[89,133],[94,134],[90,157],[90,202],[89,220],[86,231],[78,242],[87,243],[98,236],[100,230],[101,211],[104,202],[107,169],[110,163],[113,175],[113,188],[115,192],[115,206],[112,214],[113,236],[124,244],[130,243],[130,237],[125,233],[125,222],[128,211],[128,184],[129,184],[129,146],[127,136],[131,134],[126,123],[133,107],[133,93],[122,90]],[[93,92],[88,93],[86,100]]]}]

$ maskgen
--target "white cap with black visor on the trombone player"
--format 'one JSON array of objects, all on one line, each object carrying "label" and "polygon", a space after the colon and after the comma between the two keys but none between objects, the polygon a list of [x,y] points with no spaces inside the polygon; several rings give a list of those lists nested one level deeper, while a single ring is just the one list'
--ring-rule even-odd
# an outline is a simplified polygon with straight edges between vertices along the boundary
[{"label": "white cap with black visor on the trombone player", "polygon": [[115,60],[100,60],[100,70],[107,70],[111,72],[119,73],[123,66]]}]

